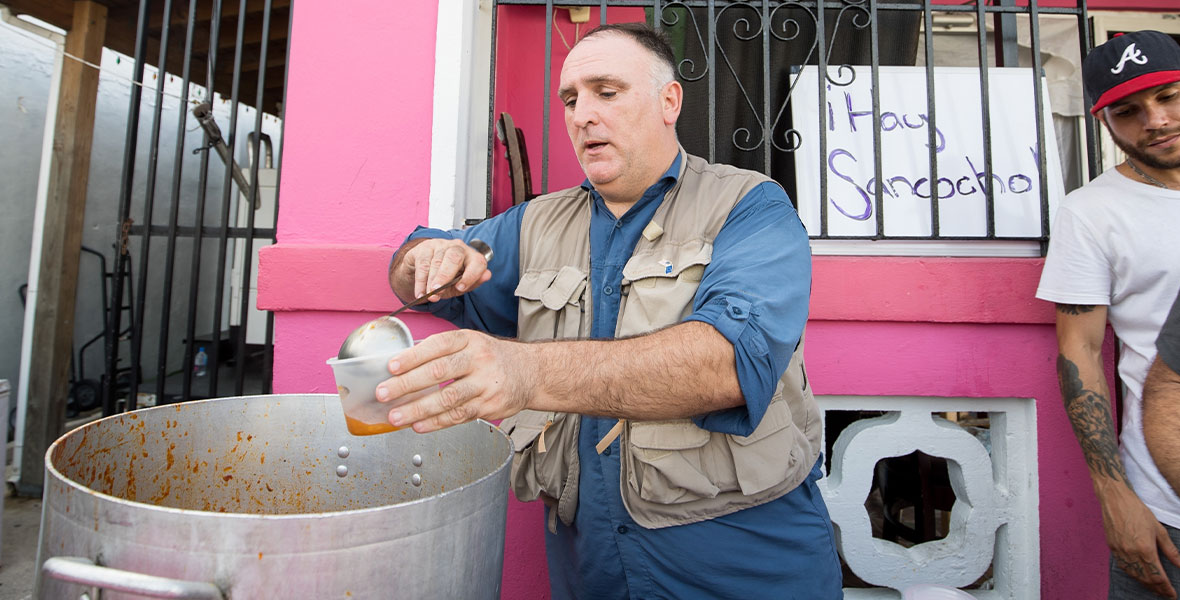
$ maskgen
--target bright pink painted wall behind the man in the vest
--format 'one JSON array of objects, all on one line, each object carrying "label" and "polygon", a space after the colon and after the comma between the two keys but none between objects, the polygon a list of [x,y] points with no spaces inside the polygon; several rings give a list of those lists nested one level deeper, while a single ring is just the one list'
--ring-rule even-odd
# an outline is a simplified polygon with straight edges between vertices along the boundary
[{"label": "bright pink painted wall behind the man in the vest", "polygon": [[[262,252],[258,274],[260,307],[275,311],[276,392],[332,392],[324,359],[353,327],[396,306],[386,266],[427,219],[435,19],[437,1],[391,11],[386,0],[306,0],[295,12],[278,243]],[[572,26],[558,22],[572,43]],[[543,13],[504,7],[499,27],[502,40],[536,35]],[[559,39],[558,47],[555,81]],[[539,157],[539,90],[530,81],[543,67],[518,48],[500,47],[497,107],[536,136],[529,148]],[[550,154],[562,158],[550,188],[576,184],[559,107],[551,136]],[[496,170],[503,207],[500,159]],[[539,183],[539,169],[533,176]],[[1053,311],[1032,300],[1040,268],[1040,260],[817,257],[808,370],[830,394],[1036,398],[1043,598],[1104,598],[1097,506],[1056,391]],[[407,321],[417,335],[448,327]],[[549,596],[537,503],[510,503],[503,592]]]}]

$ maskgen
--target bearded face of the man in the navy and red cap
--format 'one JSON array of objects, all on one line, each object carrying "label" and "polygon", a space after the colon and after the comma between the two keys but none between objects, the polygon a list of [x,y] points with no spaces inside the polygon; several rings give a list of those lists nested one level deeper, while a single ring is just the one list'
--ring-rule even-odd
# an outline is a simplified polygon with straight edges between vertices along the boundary
[{"label": "bearded face of the man in the navy and red cap", "polygon": [[1100,115],[1114,143],[1136,163],[1180,168],[1180,83],[1133,93]]}]

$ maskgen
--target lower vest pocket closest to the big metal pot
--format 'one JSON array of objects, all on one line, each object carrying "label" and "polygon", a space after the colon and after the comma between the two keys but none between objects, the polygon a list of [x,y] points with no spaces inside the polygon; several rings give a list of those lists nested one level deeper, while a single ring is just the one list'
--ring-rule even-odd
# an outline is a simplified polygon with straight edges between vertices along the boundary
[{"label": "lower vest pocket closest to the big metal pot", "polygon": [[512,493],[520,502],[543,498],[565,524],[577,510],[577,425],[576,415],[533,410],[500,422],[512,441]]}]

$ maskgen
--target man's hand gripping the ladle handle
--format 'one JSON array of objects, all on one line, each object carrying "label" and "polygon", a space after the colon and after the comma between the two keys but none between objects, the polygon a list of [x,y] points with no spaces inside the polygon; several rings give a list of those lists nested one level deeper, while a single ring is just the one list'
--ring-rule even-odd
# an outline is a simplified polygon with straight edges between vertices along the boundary
[{"label": "man's hand gripping the ladle handle", "polygon": [[491,279],[487,261],[463,240],[421,239],[406,242],[389,267],[389,287],[402,302],[432,291],[463,273],[451,289],[428,301],[465,294]]}]

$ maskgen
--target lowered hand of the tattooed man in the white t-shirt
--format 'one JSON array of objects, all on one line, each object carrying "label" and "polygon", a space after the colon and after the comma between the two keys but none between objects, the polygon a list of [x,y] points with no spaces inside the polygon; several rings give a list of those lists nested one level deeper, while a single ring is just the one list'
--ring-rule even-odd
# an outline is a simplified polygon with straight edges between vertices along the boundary
[{"label": "lowered hand of the tattooed man in the white t-shirt", "polygon": [[1163,572],[1160,555],[1180,567],[1180,552],[1134,491],[1122,484],[1112,485],[1117,488],[1112,488],[1101,504],[1102,527],[1115,565],[1161,598],[1175,599],[1176,592]]}]

